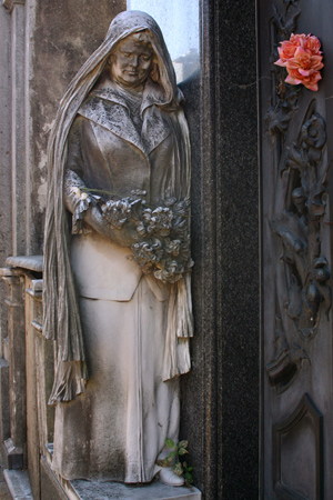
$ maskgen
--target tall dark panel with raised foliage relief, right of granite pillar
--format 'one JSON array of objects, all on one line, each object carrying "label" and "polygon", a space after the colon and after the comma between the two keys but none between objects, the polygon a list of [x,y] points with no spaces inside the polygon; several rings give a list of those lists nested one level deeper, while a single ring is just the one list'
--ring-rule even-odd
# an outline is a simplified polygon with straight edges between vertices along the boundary
[{"label": "tall dark panel with raised foliage relief, right of granite pillar", "polygon": [[[323,4],[332,11],[329,2]],[[262,498],[329,499],[333,494],[329,119],[333,61],[327,51],[332,36],[324,17],[306,0],[261,1],[259,27]],[[310,84],[287,83],[286,69],[274,64],[280,42],[292,33],[312,33],[322,43],[325,69],[317,91]]]}]

